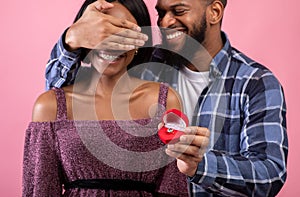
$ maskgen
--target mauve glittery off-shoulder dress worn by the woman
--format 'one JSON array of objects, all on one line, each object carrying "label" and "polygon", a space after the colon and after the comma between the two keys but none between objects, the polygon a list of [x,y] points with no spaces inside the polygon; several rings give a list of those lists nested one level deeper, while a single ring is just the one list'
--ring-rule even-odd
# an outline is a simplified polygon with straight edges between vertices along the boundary
[{"label": "mauve glittery off-shoulder dress worn by the woman", "polygon": [[[188,196],[186,176],[164,153],[152,119],[74,121],[67,119],[64,91],[54,89],[57,120],[31,122],[26,130],[23,196]],[[158,103],[165,108],[168,87],[160,86]],[[154,192],[66,188],[76,180],[133,180],[155,186]]]}]

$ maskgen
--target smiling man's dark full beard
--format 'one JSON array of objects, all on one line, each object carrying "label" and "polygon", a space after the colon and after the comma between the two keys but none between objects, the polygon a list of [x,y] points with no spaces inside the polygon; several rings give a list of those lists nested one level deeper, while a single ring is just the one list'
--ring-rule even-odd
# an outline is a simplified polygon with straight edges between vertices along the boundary
[{"label": "smiling man's dark full beard", "polygon": [[171,65],[176,65],[177,67],[185,66],[187,64],[191,64],[191,60],[195,56],[195,53],[199,50],[205,49],[202,46],[203,41],[205,40],[205,34],[207,30],[206,23],[206,13],[203,14],[202,20],[198,24],[193,25],[193,31],[191,31],[190,35],[186,35],[185,43],[182,48],[175,52],[170,49],[168,46],[168,41],[166,40],[166,36],[163,35],[162,44],[166,47],[168,54],[167,62]]}]

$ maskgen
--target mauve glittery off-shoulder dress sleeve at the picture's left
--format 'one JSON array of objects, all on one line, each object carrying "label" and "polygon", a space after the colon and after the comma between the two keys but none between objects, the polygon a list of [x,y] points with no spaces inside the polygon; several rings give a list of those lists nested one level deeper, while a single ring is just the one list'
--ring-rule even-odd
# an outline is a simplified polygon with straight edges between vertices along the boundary
[{"label": "mauve glittery off-shoulder dress sleeve at the picture's left", "polygon": [[26,130],[22,196],[61,196],[62,171],[51,122],[31,122]]}]

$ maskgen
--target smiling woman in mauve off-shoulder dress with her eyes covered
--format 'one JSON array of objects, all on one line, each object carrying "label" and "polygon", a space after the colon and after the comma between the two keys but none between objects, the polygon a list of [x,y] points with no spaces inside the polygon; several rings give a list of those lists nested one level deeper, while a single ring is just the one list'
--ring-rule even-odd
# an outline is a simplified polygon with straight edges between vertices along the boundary
[{"label": "smiling woman in mauve off-shoulder dress with her eyes covered", "polygon": [[[107,14],[150,26],[142,0],[110,2]],[[87,50],[82,60],[91,67],[74,85],[39,96],[26,131],[23,196],[187,195],[186,177],[156,134],[162,113],[180,110],[179,99],[165,84],[127,74],[148,50]]]}]

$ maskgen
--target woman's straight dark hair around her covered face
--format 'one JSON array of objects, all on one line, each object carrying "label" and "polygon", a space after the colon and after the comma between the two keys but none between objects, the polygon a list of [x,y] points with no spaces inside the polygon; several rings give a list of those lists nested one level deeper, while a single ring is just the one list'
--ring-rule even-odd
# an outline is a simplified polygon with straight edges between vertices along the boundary
[{"label": "woman's straight dark hair around her covered face", "polygon": [[[83,15],[83,12],[87,8],[88,5],[94,3],[96,0],[86,0],[83,5],[81,6],[79,12],[77,13],[74,23]],[[133,15],[135,20],[137,21],[138,26],[140,27],[150,27],[151,26],[151,19],[147,9],[146,4],[143,0],[106,0],[107,2],[118,2],[126,7],[129,12]],[[142,28],[142,32],[148,35],[148,40],[145,43],[145,46],[152,46],[152,34],[151,28]],[[87,53],[90,50],[86,49],[81,54],[81,60],[83,60]],[[132,62],[128,65],[127,69],[132,68],[135,65],[144,63],[149,61],[152,54],[151,47],[143,47],[139,48],[138,55],[135,55]]]}]

